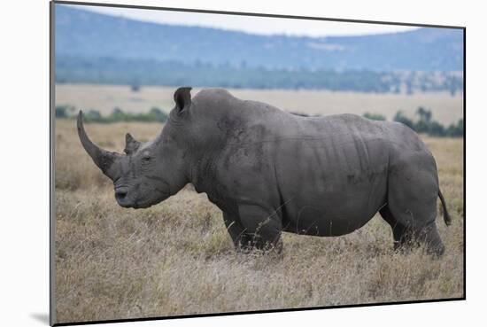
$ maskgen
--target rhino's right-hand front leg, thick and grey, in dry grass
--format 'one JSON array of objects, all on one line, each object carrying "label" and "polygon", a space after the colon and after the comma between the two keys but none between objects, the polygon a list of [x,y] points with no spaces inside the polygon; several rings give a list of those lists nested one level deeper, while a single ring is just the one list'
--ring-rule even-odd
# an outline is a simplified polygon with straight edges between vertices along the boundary
[{"label": "rhino's right-hand front leg, thick and grey, in dry grass", "polygon": [[282,253],[282,222],[272,210],[257,205],[239,205],[238,214],[250,247]]}]

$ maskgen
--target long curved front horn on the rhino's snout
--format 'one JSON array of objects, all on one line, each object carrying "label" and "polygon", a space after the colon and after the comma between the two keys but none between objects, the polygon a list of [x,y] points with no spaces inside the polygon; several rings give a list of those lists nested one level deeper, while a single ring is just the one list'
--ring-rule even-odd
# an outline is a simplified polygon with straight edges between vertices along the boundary
[{"label": "long curved front horn on the rhino's snout", "polygon": [[89,137],[86,135],[86,132],[84,130],[83,126],[83,113],[80,110],[80,113],[78,113],[78,121],[77,121],[77,126],[78,126],[78,136],[80,136],[81,144],[83,145],[83,148],[88,152],[89,156],[95,162],[97,167],[102,169],[102,172],[104,175],[107,175],[111,179],[114,179],[114,174],[112,172],[112,167],[113,162],[120,157],[120,154],[117,152],[108,152],[97,145],[93,144],[91,140],[89,140]]}]

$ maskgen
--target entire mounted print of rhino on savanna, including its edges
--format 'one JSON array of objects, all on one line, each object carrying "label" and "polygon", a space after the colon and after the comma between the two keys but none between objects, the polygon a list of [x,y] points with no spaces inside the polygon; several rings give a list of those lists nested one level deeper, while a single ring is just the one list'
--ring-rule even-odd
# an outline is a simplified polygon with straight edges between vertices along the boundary
[{"label": "entire mounted print of rhino on savanna, including its edges", "polygon": [[50,10],[51,324],[465,299],[464,27]]}]

